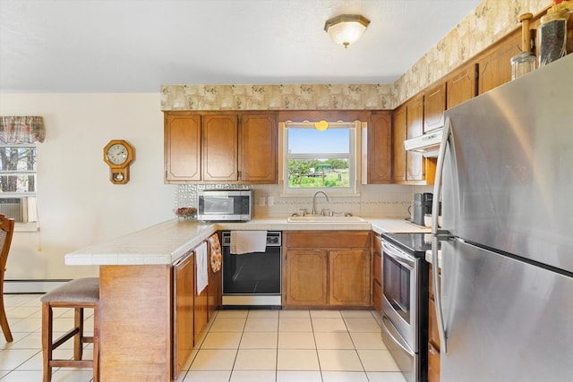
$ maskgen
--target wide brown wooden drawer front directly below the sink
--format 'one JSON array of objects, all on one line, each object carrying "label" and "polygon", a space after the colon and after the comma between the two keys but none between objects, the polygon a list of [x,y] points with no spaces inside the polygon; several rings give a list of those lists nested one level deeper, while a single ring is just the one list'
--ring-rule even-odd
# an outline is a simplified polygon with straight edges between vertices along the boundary
[{"label": "wide brown wooden drawer front directly below the sink", "polygon": [[365,248],[370,249],[367,231],[286,232],[286,248]]}]

